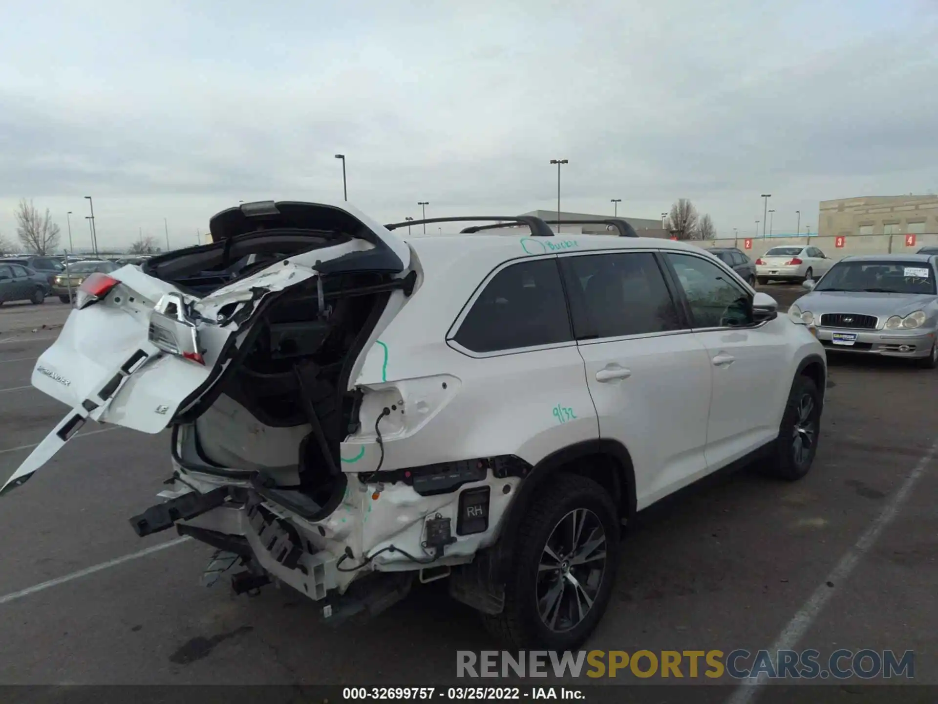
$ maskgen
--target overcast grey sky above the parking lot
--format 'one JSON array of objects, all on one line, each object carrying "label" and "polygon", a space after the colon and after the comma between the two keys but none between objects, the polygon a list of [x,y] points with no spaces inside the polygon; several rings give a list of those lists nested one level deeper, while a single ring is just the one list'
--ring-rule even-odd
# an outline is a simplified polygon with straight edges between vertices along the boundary
[{"label": "overcast grey sky above the parking lot", "polygon": [[933,0],[468,3],[8,0],[0,234],[22,198],[67,241],[174,247],[238,200],[382,222],[556,207],[740,236],[818,201],[938,190]]}]

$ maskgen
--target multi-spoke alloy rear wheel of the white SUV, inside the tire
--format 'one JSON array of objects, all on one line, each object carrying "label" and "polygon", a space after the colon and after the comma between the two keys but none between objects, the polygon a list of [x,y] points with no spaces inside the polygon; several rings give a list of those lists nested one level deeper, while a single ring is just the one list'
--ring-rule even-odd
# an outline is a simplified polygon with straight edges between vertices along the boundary
[{"label": "multi-spoke alloy rear wheel of the white SUV, inside the tire", "polygon": [[606,573],[606,532],[596,513],[574,509],[553,527],[537,565],[537,613],[563,633],[586,618]]}]

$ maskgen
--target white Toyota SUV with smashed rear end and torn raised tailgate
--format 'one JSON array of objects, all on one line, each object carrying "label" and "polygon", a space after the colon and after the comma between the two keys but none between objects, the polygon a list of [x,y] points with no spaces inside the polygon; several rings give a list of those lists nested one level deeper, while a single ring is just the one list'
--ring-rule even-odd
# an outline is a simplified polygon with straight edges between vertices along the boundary
[{"label": "white Toyota SUV with smashed rear end and torn raised tailgate", "polygon": [[330,621],[445,578],[508,645],[567,650],[635,512],[730,465],[808,472],[824,348],[732,268],[622,220],[423,222],[454,221],[501,222],[401,237],[246,203],[212,244],[88,277],[32,376],[71,411],[0,493],[88,419],[170,428],[130,523],[214,546],[208,581],[279,581]]}]

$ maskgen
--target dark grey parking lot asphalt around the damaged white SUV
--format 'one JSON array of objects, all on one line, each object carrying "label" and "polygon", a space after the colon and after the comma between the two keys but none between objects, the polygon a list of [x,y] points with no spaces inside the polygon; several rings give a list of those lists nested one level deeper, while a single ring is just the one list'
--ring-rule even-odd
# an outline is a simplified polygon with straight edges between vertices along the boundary
[{"label": "dark grey parking lot asphalt around the damaged white SUV", "polygon": [[[802,293],[763,290],[782,310]],[[20,389],[52,335],[0,336],[2,478],[67,410]],[[915,681],[938,684],[936,393],[938,373],[832,358],[809,476],[744,469],[641,513],[586,649],[915,650]],[[443,683],[456,650],[497,647],[439,584],[341,627],[317,624],[316,605],[287,588],[249,598],[200,587],[211,548],[170,543],[170,531],[141,540],[128,523],[159,500],[168,442],[85,427],[0,498],[0,684]]]}]

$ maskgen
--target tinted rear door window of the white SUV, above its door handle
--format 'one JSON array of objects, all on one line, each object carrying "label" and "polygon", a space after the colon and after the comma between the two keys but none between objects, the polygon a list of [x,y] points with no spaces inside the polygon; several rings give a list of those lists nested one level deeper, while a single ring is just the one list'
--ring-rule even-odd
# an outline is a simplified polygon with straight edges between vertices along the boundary
[{"label": "tinted rear door window of the white SUV, above its door handle", "polygon": [[577,340],[683,329],[652,253],[565,256]]}]

